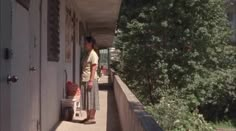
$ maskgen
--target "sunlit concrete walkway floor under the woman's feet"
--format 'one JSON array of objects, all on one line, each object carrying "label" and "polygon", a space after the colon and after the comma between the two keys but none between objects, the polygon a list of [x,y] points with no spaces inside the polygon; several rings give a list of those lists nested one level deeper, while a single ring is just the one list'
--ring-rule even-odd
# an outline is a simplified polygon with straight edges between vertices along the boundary
[{"label": "sunlit concrete walkway floor under the woman's feet", "polygon": [[[56,131],[121,131],[115,97],[113,89],[108,86],[108,77],[99,80],[99,88],[100,110],[96,114],[97,123],[85,125],[63,121]],[[85,116],[86,113],[82,112],[82,117],[76,119],[81,120]]]}]

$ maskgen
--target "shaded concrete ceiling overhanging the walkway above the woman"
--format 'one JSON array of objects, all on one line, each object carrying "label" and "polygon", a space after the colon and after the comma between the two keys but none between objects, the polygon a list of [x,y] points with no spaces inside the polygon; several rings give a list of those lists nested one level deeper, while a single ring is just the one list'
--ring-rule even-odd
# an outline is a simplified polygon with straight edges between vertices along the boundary
[{"label": "shaded concrete ceiling overhanging the walkway above the woman", "polygon": [[112,46],[121,0],[76,0],[99,48]]}]

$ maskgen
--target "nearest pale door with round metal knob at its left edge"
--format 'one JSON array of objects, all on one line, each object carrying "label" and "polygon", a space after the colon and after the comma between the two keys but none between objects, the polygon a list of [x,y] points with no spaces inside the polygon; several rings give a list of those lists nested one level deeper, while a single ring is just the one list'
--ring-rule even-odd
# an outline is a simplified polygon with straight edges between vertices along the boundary
[{"label": "nearest pale door with round metal knob at its left edge", "polygon": [[13,2],[11,77],[11,131],[29,131],[31,88],[29,83],[29,12]]}]

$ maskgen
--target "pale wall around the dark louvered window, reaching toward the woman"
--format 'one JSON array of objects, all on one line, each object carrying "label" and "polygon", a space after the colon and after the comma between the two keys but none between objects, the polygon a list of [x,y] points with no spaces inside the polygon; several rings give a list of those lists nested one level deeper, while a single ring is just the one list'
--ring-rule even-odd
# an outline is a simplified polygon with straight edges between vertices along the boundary
[{"label": "pale wall around the dark louvered window, reaching toward the woman", "polygon": [[[66,3],[68,2],[68,3]],[[71,2],[71,1],[70,1]],[[60,60],[59,62],[47,61],[47,0],[43,0],[42,17],[42,49],[41,49],[41,130],[49,131],[59,122],[60,100],[64,96],[65,83],[72,81],[72,63],[65,62],[65,7],[74,4],[60,0]],[[79,13],[77,16],[79,17]],[[78,22],[79,23],[79,22]],[[79,25],[79,24],[77,24]],[[77,28],[79,28],[77,26]],[[78,34],[78,32],[76,33]],[[76,35],[79,36],[79,35]],[[79,41],[76,41],[79,45]],[[76,47],[76,83],[79,83],[80,47]],[[68,77],[66,77],[66,74]]]}]

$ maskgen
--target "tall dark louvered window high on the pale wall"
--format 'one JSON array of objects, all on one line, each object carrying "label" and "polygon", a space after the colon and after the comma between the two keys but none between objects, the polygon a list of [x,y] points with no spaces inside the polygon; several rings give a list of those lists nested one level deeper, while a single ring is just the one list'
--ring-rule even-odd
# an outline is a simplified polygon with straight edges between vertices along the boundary
[{"label": "tall dark louvered window high on the pale wall", "polygon": [[48,0],[48,61],[59,61],[59,0]]}]

